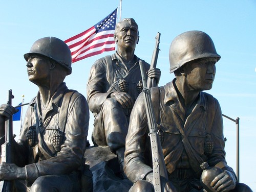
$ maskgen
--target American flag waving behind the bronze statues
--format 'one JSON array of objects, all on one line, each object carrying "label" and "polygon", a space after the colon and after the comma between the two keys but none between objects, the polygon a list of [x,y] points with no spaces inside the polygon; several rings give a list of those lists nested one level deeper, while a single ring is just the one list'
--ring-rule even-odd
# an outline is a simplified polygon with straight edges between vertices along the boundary
[{"label": "American flag waving behind the bronze statues", "polygon": [[117,8],[95,26],[65,41],[71,51],[72,63],[115,50],[116,16]]}]

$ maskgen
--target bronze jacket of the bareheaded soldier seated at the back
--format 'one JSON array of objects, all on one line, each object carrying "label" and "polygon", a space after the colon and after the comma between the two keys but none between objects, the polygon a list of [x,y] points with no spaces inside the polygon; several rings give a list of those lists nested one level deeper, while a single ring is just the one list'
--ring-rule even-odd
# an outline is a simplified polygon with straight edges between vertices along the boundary
[{"label": "bronze jacket of the bareheaded soldier seated at the back", "polygon": [[[125,81],[129,84],[127,93],[131,95],[134,101],[137,99],[139,92],[136,86],[142,78],[139,67],[140,59],[136,55],[134,57],[136,62],[130,69],[125,66],[117,53],[111,56],[111,66],[108,66],[104,57],[95,61],[91,67],[87,83],[88,104],[93,113],[98,114],[100,112],[102,104],[113,91],[120,91],[118,85],[114,86],[113,89],[111,86],[118,82],[121,77],[125,77]],[[144,62],[144,68],[147,71],[150,65]]]}]

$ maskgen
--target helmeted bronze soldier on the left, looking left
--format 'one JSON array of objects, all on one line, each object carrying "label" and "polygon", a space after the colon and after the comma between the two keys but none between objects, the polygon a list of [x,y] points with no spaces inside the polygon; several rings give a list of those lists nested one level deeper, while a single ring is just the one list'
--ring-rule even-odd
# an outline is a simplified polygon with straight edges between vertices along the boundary
[{"label": "helmeted bronze soldier on the left, looking left", "polygon": [[[88,103],[63,82],[72,71],[68,45],[55,37],[41,38],[24,58],[29,80],[39,91],[29,104],[19,140],[14,141],[14,163],[0,165],[0,179],[15,180],[16,191],[29,187],[30,191],[75,192],[84,186],[92,191],[91,173],[83,158]],[[0,106],[1,138],[5,136],[5,119],[15,112],[10,104]]]}]

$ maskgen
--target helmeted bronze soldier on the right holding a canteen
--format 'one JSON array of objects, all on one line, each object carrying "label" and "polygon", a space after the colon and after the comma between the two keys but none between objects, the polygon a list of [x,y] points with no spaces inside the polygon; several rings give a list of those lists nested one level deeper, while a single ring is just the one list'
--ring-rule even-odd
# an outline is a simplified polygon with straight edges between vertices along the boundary
[{"label": "helmeted bronze soldier on the right holding a canteen", "polygon": [[[212,191],[252,191],[237,183],[227,165],[221,107],[203,92],[211,89],[220,58],[211,38],[201,31],[182,33],[170,45],[170,73],[176,78],[151,89],[168,174],[168,179],[161,179],[162,191],[203,191],[200,164],[205,161],[222,170],[210,181]],[[124,171],[134,182],[131,192],[154,191],[143,100],[139,95],[125,143]]]}]

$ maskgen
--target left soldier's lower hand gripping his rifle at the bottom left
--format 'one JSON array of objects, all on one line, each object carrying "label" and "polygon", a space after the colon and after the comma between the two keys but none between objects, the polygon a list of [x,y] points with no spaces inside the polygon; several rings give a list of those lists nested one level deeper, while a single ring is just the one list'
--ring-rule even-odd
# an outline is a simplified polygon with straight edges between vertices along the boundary
[{"label": "left soldier's lower hand gripping his rifle at the bottom left", "polygon": [[14,163],[3,162],[2,164],[0,164],[0,179],[1,180],[26,179],[25,167],[18,167]]}]

